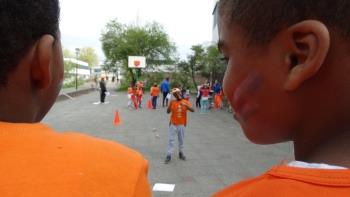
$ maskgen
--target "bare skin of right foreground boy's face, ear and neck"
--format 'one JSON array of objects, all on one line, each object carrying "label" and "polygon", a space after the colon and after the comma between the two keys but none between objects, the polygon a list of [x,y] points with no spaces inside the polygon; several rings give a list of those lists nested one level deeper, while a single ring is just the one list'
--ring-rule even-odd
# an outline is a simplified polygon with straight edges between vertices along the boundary
[{"label": "bare skin of right foreground boy's face, ear and neck", "polygon": [[239,26],[220,24],[224,91],[246,136],[293,141],[296,160],[350,168],[349,42],[307,20],[248,46]]}]

